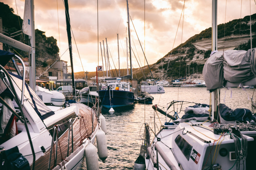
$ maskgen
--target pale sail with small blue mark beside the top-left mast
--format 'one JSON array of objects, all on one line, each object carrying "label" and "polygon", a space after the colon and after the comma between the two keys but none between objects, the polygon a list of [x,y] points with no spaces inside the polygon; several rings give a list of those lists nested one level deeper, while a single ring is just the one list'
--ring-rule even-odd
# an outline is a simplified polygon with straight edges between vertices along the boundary
[{"label": "pale sail with small blue mark beside the top-left mast", "polygon": [[24,34],[31,36],[31,3],[29,0],[25,0],[22,31]]}]

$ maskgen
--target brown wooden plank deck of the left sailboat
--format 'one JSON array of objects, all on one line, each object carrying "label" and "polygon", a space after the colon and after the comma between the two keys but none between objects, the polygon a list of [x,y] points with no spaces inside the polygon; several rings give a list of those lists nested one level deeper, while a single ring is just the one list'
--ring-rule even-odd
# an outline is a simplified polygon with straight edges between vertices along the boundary
[{"label": "brown wooden plank deck of the left sailboat", "polygon": [[[83,108],[84,109],[84,108]],[[81,136],[79,133],[79,128],[80,128],[80,121],[81,121],[81,135],[82,137],[87,135],[87,132],[90,134],[92,132],[92,122],[91,122],[91,110],[86,109],[86,110],[81,110],[79,109],[80,115],[83,116],[83,120],[85,122],[86,128],[84,126],[83,120],[81,121],[80,119],[78,119],[76,122],[74,122],[73,124],[73,151],[75,151],[76,149],[79,148],[80,145],[80,140],[81,140]],[[97,127],[97,118],[95,116],[95,114],[93,114],[93,127],[95,129],[95,127]],[[87,129],[87,132],[86,132]],[[70,132],[70,144],[69,144],[69,152],[72,151],[71,148],[71,132]],[[61,153],[62,153],[62,157],[63,159],[66,158],[67,156],[67,150],[68,150],[68,131],[66,133],[64,133],[62,135],[62,137],[59,139],[59,143],[60,143],[60,148],[61,148]],[[54,149],[56,148],[56,145],[54,145]],[[44,156],[41,156],[36,162],[35,162],[35,168],[36,169],[47,169],[48,168],[48,162],[49,162],[49,155],[50,155],[50,150],[48,150],[48,152],[46,152],[47,154],[45,154]],[[64,160],[64,162],[66,163],[67,161]],[[59,149],[59,144],[58,144],[58,152],[57,152],[57,164],[61,164],[61,154],[60,154],[60,149]],[[53,167],[54,165],[54,153],[52,152],[52,156],[51,156],[51,167]],[[58,165],[57,165],[58,166]]]}]

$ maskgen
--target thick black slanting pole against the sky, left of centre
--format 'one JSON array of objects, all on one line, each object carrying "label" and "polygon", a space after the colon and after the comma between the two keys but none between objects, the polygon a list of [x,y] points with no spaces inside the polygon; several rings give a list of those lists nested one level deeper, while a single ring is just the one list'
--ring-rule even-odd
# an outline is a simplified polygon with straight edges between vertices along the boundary
[{"label": "thick black slanting pole against the sky, left of centre", "polygon": [[73,58],[72,58],[72,43],[71,43],[71,32],[70,32],[70,18],[68,12],[68,0],[64,0],[65,9],[66,9],[66,25],[67,25],[67,34],[68,34],[68,44],[69,44],[69,56],[70,56],[70,65],[71,65],[71,77],[72,77],[72,86],[73,86],[73,95],[76,94],[75,89],[75,80],[74,80],[74,69],[73,69]]}]

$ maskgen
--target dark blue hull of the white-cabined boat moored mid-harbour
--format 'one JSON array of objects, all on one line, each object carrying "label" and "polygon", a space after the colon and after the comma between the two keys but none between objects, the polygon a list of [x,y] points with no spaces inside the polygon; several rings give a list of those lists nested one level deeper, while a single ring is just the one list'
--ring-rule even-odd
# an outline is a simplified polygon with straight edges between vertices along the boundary
[{"label": "dark blue hull of the white-cabined boat moored mid-harbour", "polygon": [[110,96],[109,90],[99,90],[97,92],[101,100],[101,105],[105,108],[110,109],[111,106],[112,108],[130,106],[134,103],[134,93],[131,91],[110,90]]}]

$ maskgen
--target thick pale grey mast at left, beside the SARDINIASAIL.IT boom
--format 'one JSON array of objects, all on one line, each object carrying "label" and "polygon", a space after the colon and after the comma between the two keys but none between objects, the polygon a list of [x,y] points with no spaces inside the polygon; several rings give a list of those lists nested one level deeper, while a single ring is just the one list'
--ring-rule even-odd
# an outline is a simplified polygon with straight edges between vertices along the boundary
[{"label": "thick pale grey mast at left, beside the SARDINIASAIL.IT boom", "polygon": [[35,65],[35,22],[34,22],[34,0],[31,0],[31,68],[29,76],[29,86],[36,91],[36,65]]}]

